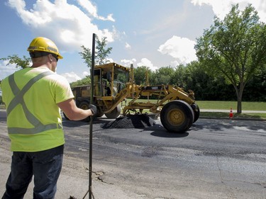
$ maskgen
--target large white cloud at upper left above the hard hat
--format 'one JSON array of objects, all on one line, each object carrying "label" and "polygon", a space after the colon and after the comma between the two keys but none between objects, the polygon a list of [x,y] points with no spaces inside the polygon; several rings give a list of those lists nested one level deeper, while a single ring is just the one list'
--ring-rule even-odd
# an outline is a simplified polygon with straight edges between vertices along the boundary
[{"label": "large white cloud at upper left above the hard hat", "polygon": [[[28,1],[27,1],[28,2]],[[96,6],[89,0],[79,0],[78,6],[67,4],[66,0],[35,1],[33,7],[27,9],[26,1],[9,0],[9,6],[16,9],[23,23],[31,28],[34,35],[43,35],[54,40],[61,51],[79,51],[81,45],[92,46],[92,33],[113,41],[116,34],[113,30],[100,30],[92,23],[94,18],[114,21],[112,14],[107,18],[97,15]],[[30,4],[30,3],[28,3]],[[85,10],[89,13],[84,13]]]}]

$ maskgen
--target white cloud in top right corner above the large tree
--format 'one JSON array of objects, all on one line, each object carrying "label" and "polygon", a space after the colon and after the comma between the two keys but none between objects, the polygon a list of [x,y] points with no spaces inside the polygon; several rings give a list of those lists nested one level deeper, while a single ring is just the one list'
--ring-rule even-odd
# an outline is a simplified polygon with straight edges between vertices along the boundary
[{"label": "white cloud in top right corner above the large tree", "polygon": [[211,6],[216,16],[221,19],[231,11],[232,4],[239,4],[240,10],[244,10],[248,4],[252,4],[260,16],[260,21],[266,22],[266,0],[192,0],[191,2],[194,5],[206,4]]}]

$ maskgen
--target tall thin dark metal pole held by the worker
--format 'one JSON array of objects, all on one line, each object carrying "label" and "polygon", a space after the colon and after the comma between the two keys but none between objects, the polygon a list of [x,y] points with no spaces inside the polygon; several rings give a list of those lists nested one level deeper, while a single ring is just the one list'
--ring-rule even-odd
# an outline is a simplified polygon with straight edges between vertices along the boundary
[{"label": "tall thin dark metal pole held by the worker", "polygon": [[[95,57],[95,36],[92,35],[92,68],[91,68],[91,103],[94,102],[94,57]],[[89,199],[92,199],[92,123],[93,116],[89,121]]]}]

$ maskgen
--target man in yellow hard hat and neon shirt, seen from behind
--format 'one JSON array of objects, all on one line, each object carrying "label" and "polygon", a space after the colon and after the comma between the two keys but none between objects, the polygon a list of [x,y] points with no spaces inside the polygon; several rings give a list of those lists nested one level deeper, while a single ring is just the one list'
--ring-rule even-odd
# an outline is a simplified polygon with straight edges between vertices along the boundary
[{"label": "man in yellow hard hat and neon shirt, seen from behind", "polygon": [[77,108],[67,80],[56,74],[63,57],[48,38],[35,38],[28,47],[32,67],[1,82],[7,127],[13,152],[3,198],[23,198],[34,176],[33,198],[55,198],[62,168],[64,133],[60,109],[70,120],[96,114]]}]

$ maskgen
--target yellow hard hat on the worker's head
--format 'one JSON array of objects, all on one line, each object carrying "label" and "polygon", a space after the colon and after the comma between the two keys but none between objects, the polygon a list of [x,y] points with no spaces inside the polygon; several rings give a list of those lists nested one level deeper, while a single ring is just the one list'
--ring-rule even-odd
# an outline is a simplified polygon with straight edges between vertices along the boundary
[{"label": "yellow hard hat on the worker's head", "polygon": [[58,59],[63,57],[60,55],[57,46],[52,40],[48,38],[38,37],[33,39],[30,46],[28,47],[28,52],[48,52],[57,55]]}]

